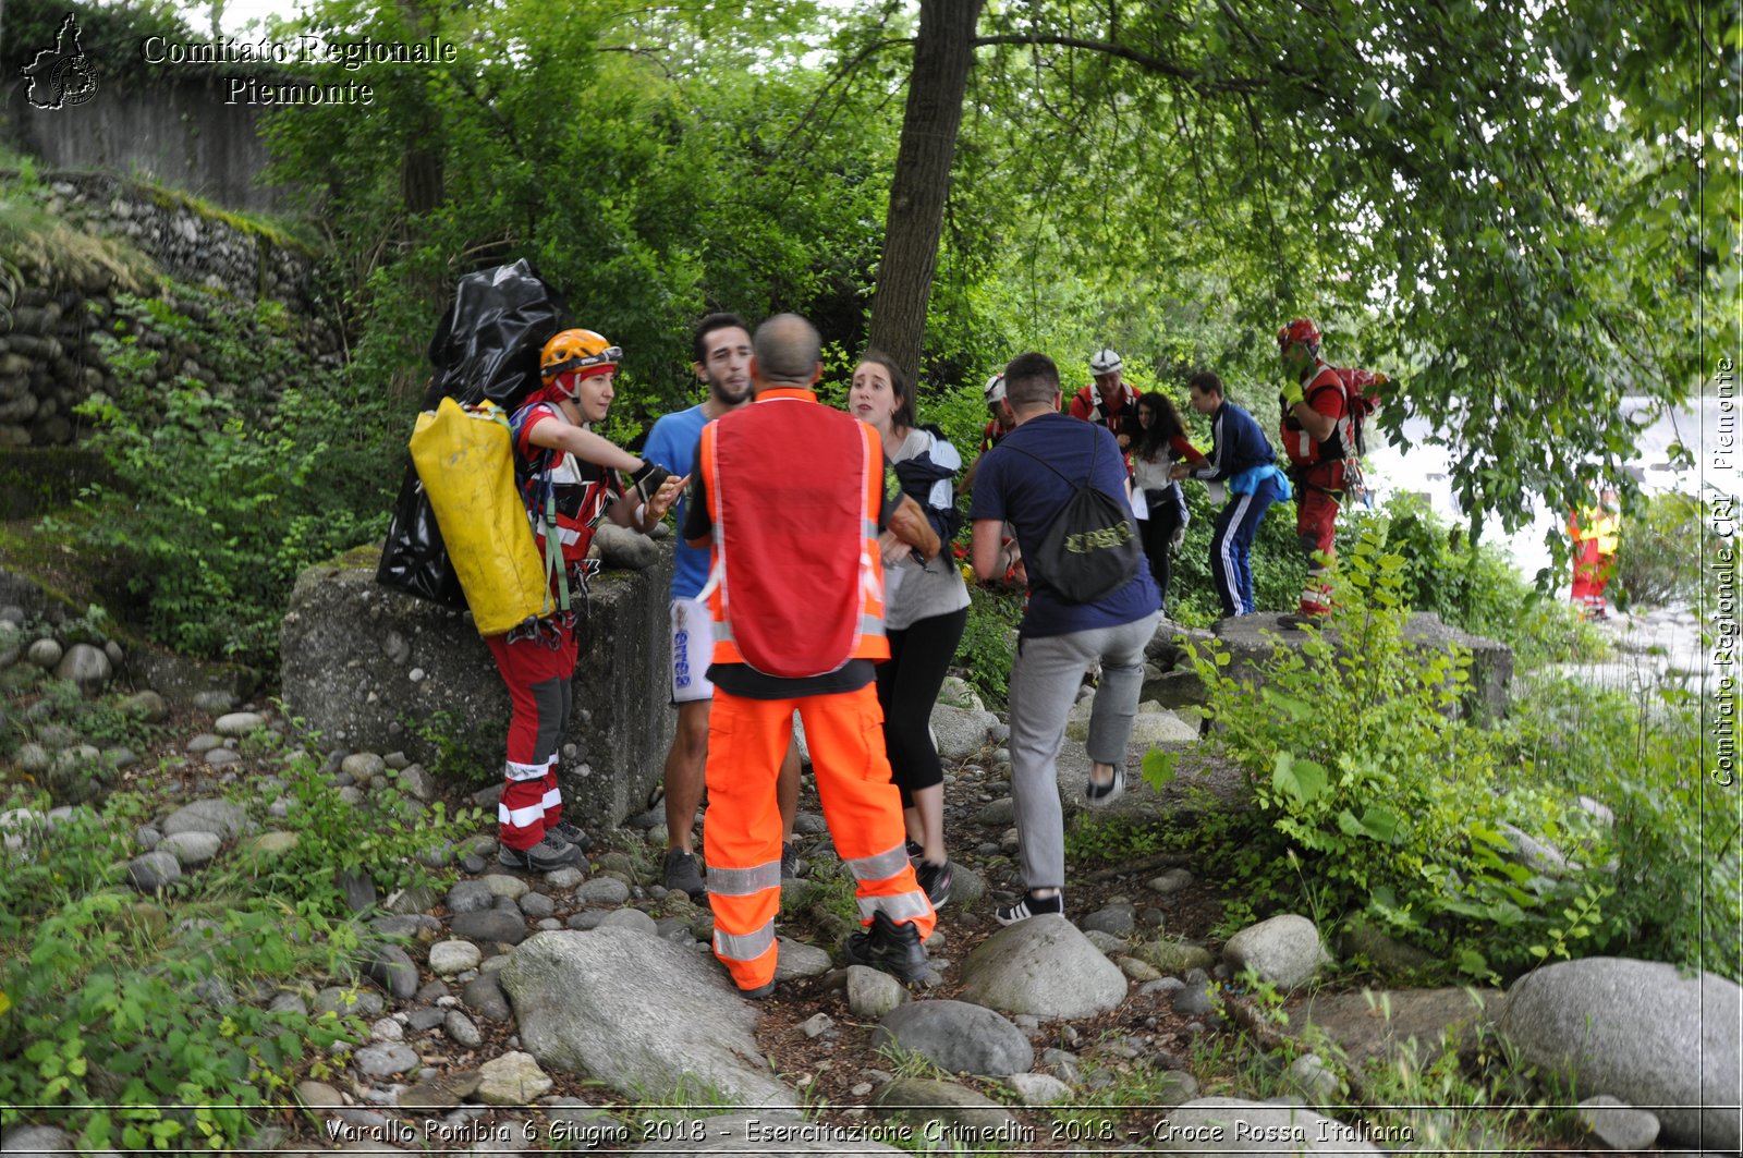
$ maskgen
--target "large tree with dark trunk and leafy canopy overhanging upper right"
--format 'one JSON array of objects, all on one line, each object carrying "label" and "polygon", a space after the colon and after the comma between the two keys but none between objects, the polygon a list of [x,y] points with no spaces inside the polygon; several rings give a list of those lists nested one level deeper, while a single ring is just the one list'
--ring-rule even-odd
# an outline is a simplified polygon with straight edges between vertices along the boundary
[{"label": "large tree with dark trunk and leafy canopy overhanging upper right", "polygon": [[[971,145],[1002,148],[1000,180],[1086,256],[1234,274],[1251,340],[1225,354],[1260,368],[1278,321],[1312,312],[1360,338],[1333,358],[1407,368],[1387,417],[1426,417],[1464,506],[1509,527],[1523,492],[1619,473],[1624,394],[1680,399],[1699,344],[1736,342],[1699,309],[1736,286],[1740,72],[1717,3],[919,10],[872,310],[908,370],[964,91],[994,110]],[[877,24],[847,59],[901,42]]]}]

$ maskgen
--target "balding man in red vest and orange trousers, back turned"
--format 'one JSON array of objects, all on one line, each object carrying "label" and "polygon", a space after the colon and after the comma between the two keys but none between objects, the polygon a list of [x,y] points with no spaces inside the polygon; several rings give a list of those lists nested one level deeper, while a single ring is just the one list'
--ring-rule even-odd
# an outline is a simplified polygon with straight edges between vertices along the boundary
[{"label": "balding man in red vest and orange trousers, back turned", "polygon": [[926,516],[903,499],[877,431],[817,403],[821,377],[810,323],[779,314],[756,328],[755,401],[702,427],[683,525],[711,562],[702,858],[715,956],[748,998],[774,992],[776,778],[793,712],[835,849],[858,882],[865,928],[847,938],[847,959],[919,980],[938,923],[908,863],[873,687],[873,664],[889,657],[877,537],[885,527],[924,537]]}]

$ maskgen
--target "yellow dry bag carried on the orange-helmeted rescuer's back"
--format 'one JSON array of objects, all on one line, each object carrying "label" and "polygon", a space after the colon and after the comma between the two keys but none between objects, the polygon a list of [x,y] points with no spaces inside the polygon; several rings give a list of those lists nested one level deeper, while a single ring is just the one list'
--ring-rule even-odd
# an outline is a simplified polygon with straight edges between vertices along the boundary
[{"label": "yellow dry bag carried on the orange-helmeted rescuer's back", "polygon": [[479,635],[502,635],[551,610],[551,584],[514,488],[507,412],[451,398],[418,415],[411,462],[436,511],[448,558]]}]

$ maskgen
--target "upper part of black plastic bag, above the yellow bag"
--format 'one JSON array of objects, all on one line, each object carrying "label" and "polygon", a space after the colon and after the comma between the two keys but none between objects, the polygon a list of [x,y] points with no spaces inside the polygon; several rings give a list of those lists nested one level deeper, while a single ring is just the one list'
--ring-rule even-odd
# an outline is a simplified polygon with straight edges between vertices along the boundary
[{"label": "upper part of black plastic bag, above the yellow bag", "polygon": [[436,398],[514,410],[539,385],[539,352],[566,316],[525,258],[467,274],[431,338]]}]

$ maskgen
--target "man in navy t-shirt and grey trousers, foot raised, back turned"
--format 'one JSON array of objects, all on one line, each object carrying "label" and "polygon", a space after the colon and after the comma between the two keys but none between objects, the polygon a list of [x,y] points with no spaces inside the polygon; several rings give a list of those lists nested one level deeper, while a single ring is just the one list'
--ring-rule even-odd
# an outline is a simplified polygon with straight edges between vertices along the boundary
[{"label": "man in navy t-shirt and grey trousers, foot raised, back turned", "polygon": [[1055,760],[1065,717],[1093,663],[1102,664],[1102,685],[1089,715],[1084,799],[1100,807],[1126,790],[1126,741],[1143,685],[1143,647],[1161,619],[1161,595],[1149,567],[1138,567],[1129,582],[1093,603],[1067,602],[1048,586],[1048,560],[1035,556],[1035,544],[1081,480],[1129,504],[1126,462],[1105,427],[1058,413],[1060,370],[1046,354],[1020,354],[1006,366],[1004,392],[1016,427],[981,457],[969,518],[976,576],[985,581],[1002,574],[1006,521],[1016,525],[1028,565],[1028,607],[1011,664],[1009,705],[1011,802],[1027,891],[1014,905],[995,910],[1000,924],[1014,924],[1065,912],[1065,820]]}]

